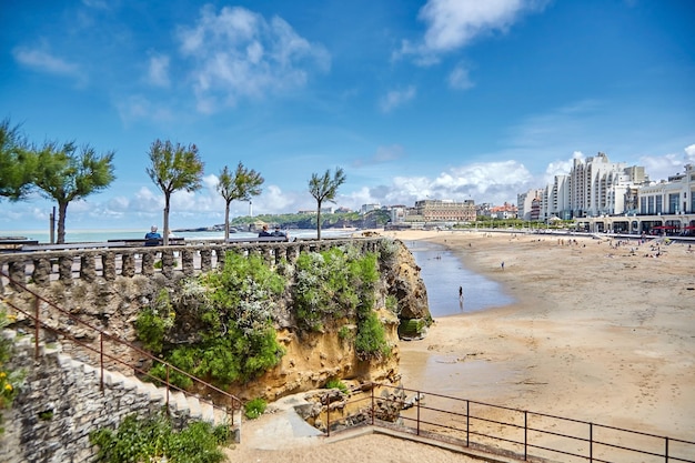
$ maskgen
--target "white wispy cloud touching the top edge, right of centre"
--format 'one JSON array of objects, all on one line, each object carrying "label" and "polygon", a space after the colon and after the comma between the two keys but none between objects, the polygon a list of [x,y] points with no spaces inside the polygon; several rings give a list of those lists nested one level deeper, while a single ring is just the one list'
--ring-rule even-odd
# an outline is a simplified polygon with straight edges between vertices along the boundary
[{"label": "white wispy cloud touching the top edge, right of centre", "polygon": [[523,12],[544,6],[544,0],[429,0],[419,13],[426,24],[424,38],[419,43],[403,41],[395,56],[410,54],[421,66],[434,64],[442,53],[464,48],[477,37],[505,32]]}]

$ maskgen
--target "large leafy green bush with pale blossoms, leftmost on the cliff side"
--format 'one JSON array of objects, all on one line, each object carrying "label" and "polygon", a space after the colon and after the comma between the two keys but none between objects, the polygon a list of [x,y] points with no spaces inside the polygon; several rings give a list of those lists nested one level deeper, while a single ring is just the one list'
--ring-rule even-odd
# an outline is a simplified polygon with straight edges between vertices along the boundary
[{"label": "large leafy green bush with pale blossoms, leftmost on the cliff side", "polygon": [[[135,323],[139,339],[174,366],[225,387],[250,381],[284,355],[272,325],[272,312],[285,279],[258,255],[228,252],[224,268],[185,281],[171,311],[158,298]],[[164,310],[162,310],[162,305]],[[174,342],[182,336],[187,342]],[[164,379],[155,363],[150,374]],[[170,371],[170,381],[189,387],[190,380]]]}]

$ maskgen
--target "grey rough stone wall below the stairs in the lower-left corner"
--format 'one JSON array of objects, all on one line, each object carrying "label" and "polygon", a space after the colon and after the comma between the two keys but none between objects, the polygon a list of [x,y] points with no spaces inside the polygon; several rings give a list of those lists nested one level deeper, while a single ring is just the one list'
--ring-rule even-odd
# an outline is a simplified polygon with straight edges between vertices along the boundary
[{"label": "grey rough stone wall below the stairs in the lower-left corner", "polygon": [[[4,335],[11,334],[6,332]],[[0,333],[2,335],[2,333]],[[163,410],[167,400],[153,385],[144,387],[122,375],[107,373],[101,389],[100,370],[73,361],[60,349],[42,344],[34,358],[30,336],[14,342],[12,370],[21,369],[26,380],[12,407],[4,410],[4,433],[0,436],[0,461],[8,463],[78,463],[94,460],[97,449],[89,433],[115,429],[130,414],[151,416]],[[190,410],[173,407],[175,425],[183,425]]]}]

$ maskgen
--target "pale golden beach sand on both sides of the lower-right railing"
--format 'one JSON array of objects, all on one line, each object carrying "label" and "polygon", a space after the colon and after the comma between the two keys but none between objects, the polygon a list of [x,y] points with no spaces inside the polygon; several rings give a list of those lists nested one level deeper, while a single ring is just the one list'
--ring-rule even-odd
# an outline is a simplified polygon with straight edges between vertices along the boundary
[{"label": "pale golden beach sand on both sides of the lower-right railing", "polygon": [[[695,441],[695,250],[687,244],[657,250],[568,235],[379,233],[443,244],[515,300],[439,318],[424,340],[401,342],[405,387]],[[465,304],[475,288],[463,291]],[[264,419],[244,430],[261,429]],[[230,457],[467,461],[382,435],[276,441],[284,450],[261,451],[258,440],[242,437]]]}]

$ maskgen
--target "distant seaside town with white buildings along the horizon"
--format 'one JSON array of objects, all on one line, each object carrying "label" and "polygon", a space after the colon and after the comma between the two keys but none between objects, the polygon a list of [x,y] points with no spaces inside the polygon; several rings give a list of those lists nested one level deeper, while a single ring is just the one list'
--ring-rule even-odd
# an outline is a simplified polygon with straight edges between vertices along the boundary
[{"label": "distant seaside town with white buildings along the horizon", "polygon": [[[315,210],[295,214],[240,217],[239,230],[263,223],[284,228],[315,227]],[[426,199],[414,205],[363,204],[360,211],[322,208],[322,228],[417,229],[457,227],[484,221],[530,222],[596,233],[695,235],[695,167],[658,182],[644,167],[611,162],[605,153],[574,160],[566,175],[517,194],[517,204],[475,204],[473,200]],[[214,225],[199,230],[223,230]]]}]

